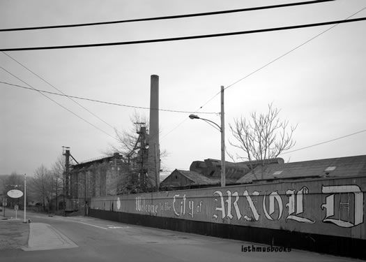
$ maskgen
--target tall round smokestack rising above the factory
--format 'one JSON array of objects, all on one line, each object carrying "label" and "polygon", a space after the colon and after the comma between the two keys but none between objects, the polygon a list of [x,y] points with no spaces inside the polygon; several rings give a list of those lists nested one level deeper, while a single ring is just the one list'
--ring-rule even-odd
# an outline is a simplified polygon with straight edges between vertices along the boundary
[{"label": "tall round smokestack rising above the factory", "polygon": [[151,75],[150,85],[150,131],[148,135],[148,179],[156,189],[160,184],[159,145],[159,76]]}]

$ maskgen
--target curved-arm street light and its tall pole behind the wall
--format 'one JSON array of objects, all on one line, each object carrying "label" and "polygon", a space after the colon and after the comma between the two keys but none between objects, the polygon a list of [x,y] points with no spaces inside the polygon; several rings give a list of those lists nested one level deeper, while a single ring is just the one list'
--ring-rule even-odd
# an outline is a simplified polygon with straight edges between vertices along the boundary
[{"label": "curved-arm street light and its tall pole behind the wall", "polygon": [[221,187],[225,187],[225,120],[224,120],[224,87],[221,86],[221,126],[210,119],[201,118],[198,115],[190,115],[190,119],[201,119],[210,124],[221,133]]}]

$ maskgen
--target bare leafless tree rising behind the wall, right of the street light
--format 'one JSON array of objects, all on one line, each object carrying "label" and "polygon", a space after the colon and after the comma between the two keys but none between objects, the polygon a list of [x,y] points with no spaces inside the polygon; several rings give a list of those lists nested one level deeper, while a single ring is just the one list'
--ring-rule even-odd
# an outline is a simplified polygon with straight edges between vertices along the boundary
[{"label": "bare leafless tree rising behind the wall, right of the street light", "polygon": [[257,114],[252,112],[248,119],[241,117],[234,119],[234,124],[229,124],[235,143],[230,144],[243,150],[246,161],[259,161],[263,168],[268,159],[275,159],[282,152],[295,145],[293,131],[296,126],[289,126],[289,121],[279,118],[280,110],[268,105],[268,112]]}]

